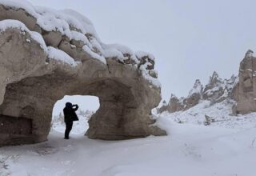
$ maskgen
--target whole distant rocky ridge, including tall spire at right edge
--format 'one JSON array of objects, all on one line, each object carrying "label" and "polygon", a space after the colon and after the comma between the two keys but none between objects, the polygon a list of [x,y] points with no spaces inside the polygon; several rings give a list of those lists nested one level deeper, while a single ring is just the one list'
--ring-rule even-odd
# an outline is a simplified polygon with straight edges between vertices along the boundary
[{"label": "whole distant rocky ridge, including tall spire at right edge", "polygon": [[214,71],[209,82],[203,86],[199,79],[194,83],[186,98],[178,98],[171,94],[170,101],[162,102],[158,108],[158,114],[168,111],[188,110],[198,105],[203,100],[210,101],[211,105],[222,102],[227,98],[234,100],[234,106],[230,112],[233,114],[246,114],[256,111],[256,58],[254,52],[248,50],[245,58],[240,63],[238,77],[232,75],[228,79],[219,78]]}]

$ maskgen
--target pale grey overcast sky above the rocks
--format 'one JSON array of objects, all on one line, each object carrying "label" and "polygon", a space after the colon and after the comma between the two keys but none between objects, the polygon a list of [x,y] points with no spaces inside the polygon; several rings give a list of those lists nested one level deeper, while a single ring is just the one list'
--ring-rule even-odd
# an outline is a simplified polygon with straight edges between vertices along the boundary
[{"label": "pale grey overcast sky above the rocks", "polygon": [[154,54],[162,97],[186,96],[199,78],[216,70],[238,74],[246,50],[254,50],[256,1],[238,0],[30,0],[73,9],[94,23],[102,42]]}]

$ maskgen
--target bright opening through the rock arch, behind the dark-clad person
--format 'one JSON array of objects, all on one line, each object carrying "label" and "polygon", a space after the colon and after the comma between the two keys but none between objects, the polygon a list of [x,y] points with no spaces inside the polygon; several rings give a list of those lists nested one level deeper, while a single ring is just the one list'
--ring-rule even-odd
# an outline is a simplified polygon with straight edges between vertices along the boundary
[{"label": "bright opening through the rock arch, behind the dark-clad person", "polygon": [[52,114],[51,130],[60,132],[62,134],[64,134],[66,129],[63,115],[63,108],[65,107],[66,102],[78,104],[79,106],[79,109],[76,112],[76,114],[78,114],[79,121],[74,122],[73,129],[71,130],[70,134],[86,134],[86,131],[89,129],[88,121],[99,108],[98,97],[66,95],[64,98],[55,103]]}]

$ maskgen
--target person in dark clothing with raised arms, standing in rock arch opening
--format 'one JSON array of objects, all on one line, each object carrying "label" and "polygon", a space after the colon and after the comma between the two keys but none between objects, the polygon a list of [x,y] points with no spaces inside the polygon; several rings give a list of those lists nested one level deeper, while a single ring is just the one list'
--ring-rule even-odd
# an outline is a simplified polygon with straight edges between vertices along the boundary
[{"label": "person in dark clothing with raised arms, standing in rock arch opening", "polygon": [[66,123],[65,139],[70,138],[70,130],[72,130],[73,121],[78,121],[78,115],[75,111],[78,110],[78,105],[72,105],[71,102],[66,102],[66,107],[63,109],[64,121]]}]

